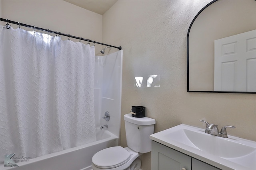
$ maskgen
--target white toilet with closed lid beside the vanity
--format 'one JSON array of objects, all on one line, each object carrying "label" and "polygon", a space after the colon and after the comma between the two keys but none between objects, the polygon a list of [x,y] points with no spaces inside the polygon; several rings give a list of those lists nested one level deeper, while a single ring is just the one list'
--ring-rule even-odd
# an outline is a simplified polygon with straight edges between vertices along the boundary
[{"label": "white toilet with closed lid beside the vanity", "polygon": [[151,151],[149,135],[154,133],[155,119],[124,115],[128,147],[110,147],[100,150],[92,157],[93,170],[138,170],[141,161],[138,156]]}]

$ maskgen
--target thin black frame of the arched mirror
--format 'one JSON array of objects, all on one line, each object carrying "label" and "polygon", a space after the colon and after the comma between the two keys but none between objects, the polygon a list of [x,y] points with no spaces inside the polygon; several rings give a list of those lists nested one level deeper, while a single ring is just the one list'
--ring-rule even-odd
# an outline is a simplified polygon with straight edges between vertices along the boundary
[{"label": "thin black frame of the arched mirror", "polygon": [[211,4],[213,4],[214,2],[217,2],[218,0],[213,0],[211,1],[209,4],[207,4],[206,6],[204,6],[204,8],[202,8],[202,10],[200,10],[198,12],[198,14],[196,14],[195,18],[192,20],[189,28],[188,28],[188,34],[187,34],[187,92],[206,92],[206,93],[247,93],[247,94],[256,94],[256,92],[226,92],[226,91],[195,91],[195,90],[189,90],[189,48],[188,48],[188,40],[189,40],[189,32],[190,29],[194,23],[194,21],[196,20],[196,18],[199,16],[199,14],[201,14],[201,12],[203,10],[205,10],[208,6],[210,6]]}]

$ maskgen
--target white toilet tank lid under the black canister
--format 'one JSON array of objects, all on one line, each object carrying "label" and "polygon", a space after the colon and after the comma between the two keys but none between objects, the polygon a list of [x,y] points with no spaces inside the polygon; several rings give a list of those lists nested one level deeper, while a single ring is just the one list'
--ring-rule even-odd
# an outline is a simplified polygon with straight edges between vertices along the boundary
[{"label": "white toilet tank lid under the black canister", "polygon": [[132,114],[124,115],[124,120],[136,125],[154,125],[156,124],[155,119],[151,119],[149,117],[132,117]]}]

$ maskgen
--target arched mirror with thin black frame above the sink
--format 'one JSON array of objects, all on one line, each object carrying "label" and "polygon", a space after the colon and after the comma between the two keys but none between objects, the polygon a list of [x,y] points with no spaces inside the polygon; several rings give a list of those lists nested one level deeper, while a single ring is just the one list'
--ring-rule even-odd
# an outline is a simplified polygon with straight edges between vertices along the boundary
[{"label": "arched mirror with thin black frame above the sink", "polygon": [[256,93],[256,0],[213,0],[187,35],[188,92]]}]

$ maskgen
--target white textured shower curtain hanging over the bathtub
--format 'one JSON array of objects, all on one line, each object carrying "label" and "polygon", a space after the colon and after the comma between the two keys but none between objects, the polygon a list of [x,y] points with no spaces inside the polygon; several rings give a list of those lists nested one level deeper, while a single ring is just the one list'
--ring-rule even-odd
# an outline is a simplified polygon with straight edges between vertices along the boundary
[{"label": "white textured shower curtain hanging over the bathtub", "polygon": [[2,26],[0,45],[1,160],[96,141],[94,46]]}]

